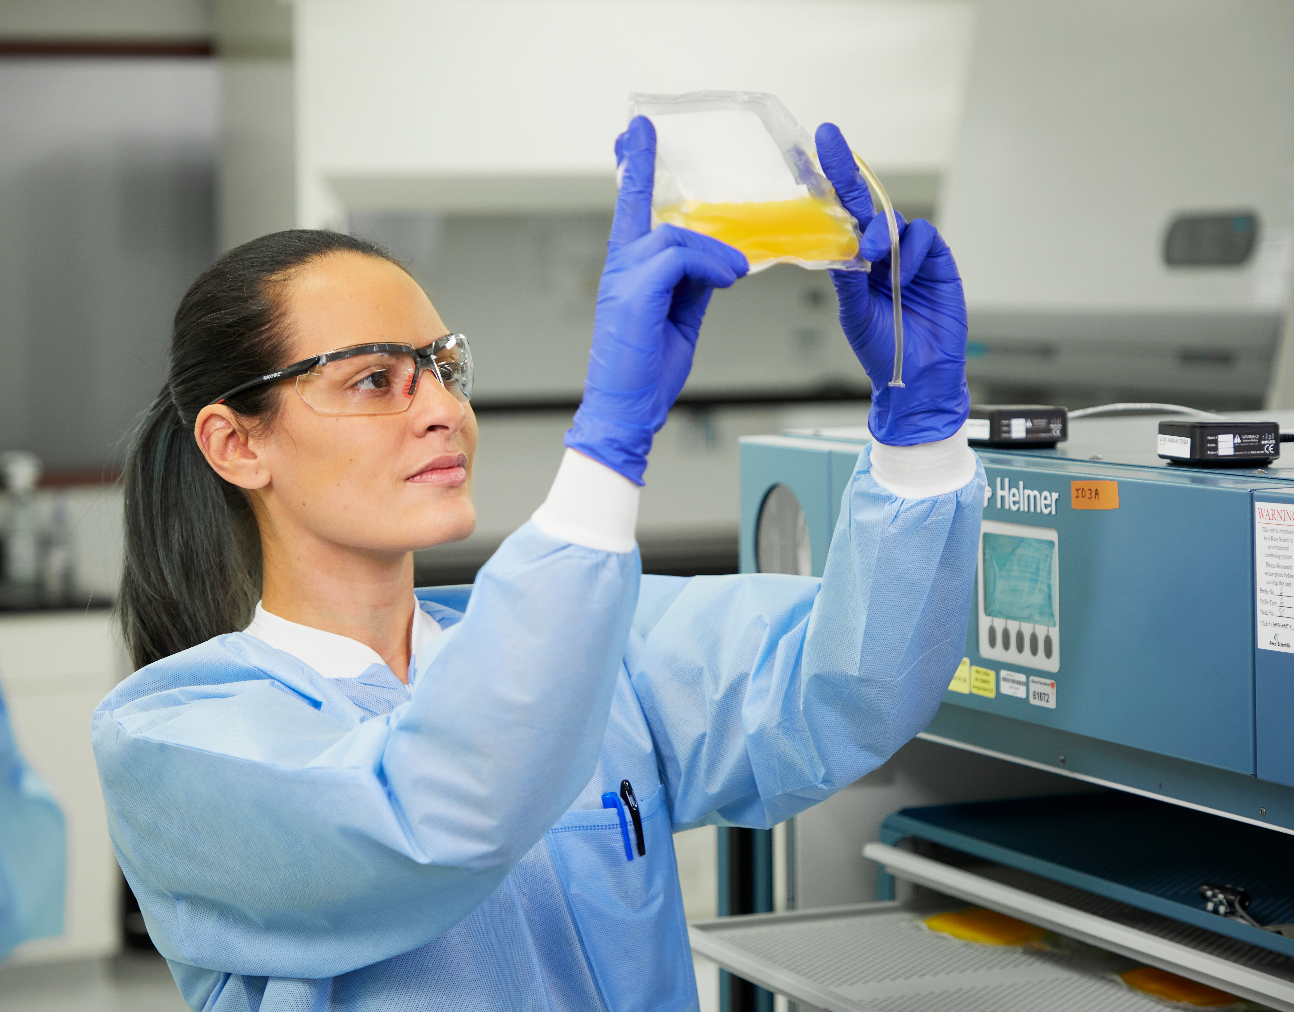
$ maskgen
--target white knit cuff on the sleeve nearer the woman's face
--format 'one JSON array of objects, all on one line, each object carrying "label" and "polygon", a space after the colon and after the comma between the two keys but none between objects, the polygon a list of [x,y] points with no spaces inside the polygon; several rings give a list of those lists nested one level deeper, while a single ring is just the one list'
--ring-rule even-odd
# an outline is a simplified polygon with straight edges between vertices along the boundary
[{"label": "white knit cuff on the sleeve nearer the woman's face", "polygon": [[642,488],[624,475],[567,448],[549,497],[531,520],[559,541],[598,551],[633,551],[641,494]]}]

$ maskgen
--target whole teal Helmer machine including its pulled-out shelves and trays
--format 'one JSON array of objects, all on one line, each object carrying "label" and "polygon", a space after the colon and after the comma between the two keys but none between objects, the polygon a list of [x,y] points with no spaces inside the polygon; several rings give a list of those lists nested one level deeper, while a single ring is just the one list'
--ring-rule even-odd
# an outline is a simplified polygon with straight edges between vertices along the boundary
[{"label": "whole teal Helmer machine including its pulled-out shelves and trays", "polygon": [[[773,902],[695,923],[697,952],[807,1008],[1162,1007],[1119,981],[1150,967],[1294,1009],[1294,461],[1170,463],[1158,421],[976,450],[965,647],[938,713],[778,827],[774,867],[752,871]],[[743,571],[822,573],[868,439],[743,440]],[[886,767],[897,784],[868,791]],[[1218,884],[1234,886],[1220,905]],[[924,927],[968,905],[1055,943]]]}]

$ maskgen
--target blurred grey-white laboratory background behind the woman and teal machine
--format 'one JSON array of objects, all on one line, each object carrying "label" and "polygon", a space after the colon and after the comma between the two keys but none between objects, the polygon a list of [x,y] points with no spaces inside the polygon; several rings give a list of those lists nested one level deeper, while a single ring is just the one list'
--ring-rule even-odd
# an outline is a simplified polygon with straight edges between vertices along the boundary
[{"label": "blurred grey-white laboratory background behind the woman and teal machine", "polygon": [[[560,458],[630,91],[839,123],[954,248],[973,400],[1234,410],[1294,406],[1291,50],[1285,0],[0,0],[0,686],[70,867],[65,933],[0,967],[0,1007],[182,1007],[88,717],[128,673],[122,437],[223,250],[365,236],[471,338],[480,523],[418,559],[463,582]],[[646,571],[736,571],[739,436],[864,423],[835,314],[793,267],[716,294],[647,472]],[[679,837],[691,916],[713,850]]]}]

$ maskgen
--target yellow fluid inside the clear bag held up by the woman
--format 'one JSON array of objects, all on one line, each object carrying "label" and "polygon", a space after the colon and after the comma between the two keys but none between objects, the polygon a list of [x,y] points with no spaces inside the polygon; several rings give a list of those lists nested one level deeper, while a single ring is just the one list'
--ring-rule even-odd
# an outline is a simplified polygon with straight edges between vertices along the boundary
[{"label": "yellow fluid inside the clear bag held up by the woman", "polygon": [[657,208],[669,225],[713,236],[745,254],[751,267],[770,260],[853,260],[858,238],[836,203],[815,197],[751,203],[683,203]]}]

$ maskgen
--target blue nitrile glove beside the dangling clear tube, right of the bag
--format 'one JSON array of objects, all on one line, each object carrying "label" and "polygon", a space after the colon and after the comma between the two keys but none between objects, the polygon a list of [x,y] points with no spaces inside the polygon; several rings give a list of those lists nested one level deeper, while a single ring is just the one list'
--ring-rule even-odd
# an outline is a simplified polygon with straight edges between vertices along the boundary
[{"label": "blue nitrile glove beside the dangling clear tube, right of the bag", "polygon": [[894,373],[894,303],[890,298],[890,237],[885,215],[872,210],[867,184],[833,123],[818,127],[818,159],[836,195],[863,230],[862,255],[872,270],[832,270],[840,325],[872,379],[867,424],[881,443],[911,446],[954,435],[970,412],[967,388],[967,300],[952,251],[934,225],[899,228],[903,286],[903,387]]}]

